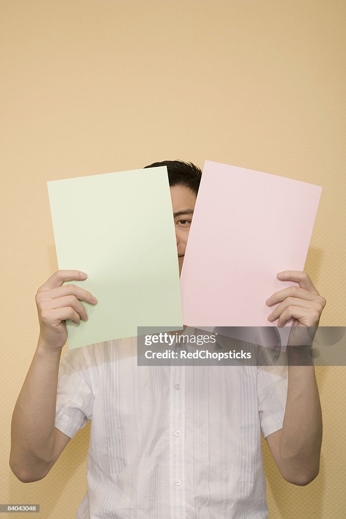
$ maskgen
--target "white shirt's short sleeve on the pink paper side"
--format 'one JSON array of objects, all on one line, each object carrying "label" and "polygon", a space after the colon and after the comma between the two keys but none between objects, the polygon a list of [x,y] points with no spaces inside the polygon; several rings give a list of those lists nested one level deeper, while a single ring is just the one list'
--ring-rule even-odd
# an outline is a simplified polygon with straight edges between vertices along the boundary
[{"label": "white shirt's short sleeve on the pink paper side", "polygon": [[257,366],[258,412],[264,438],[282,429],[287,387],[287,366]]}]

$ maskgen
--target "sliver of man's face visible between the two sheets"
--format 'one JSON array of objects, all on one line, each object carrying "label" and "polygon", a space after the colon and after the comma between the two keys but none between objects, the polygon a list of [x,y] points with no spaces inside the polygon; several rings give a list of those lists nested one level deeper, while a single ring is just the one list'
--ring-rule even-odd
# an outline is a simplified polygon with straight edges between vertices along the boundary
[{"label": "sliver of man's face visible between the two sheets", "polygon": [[170,190],[180,275],[197,196],[192,189],[182,185],[171,186]]}]

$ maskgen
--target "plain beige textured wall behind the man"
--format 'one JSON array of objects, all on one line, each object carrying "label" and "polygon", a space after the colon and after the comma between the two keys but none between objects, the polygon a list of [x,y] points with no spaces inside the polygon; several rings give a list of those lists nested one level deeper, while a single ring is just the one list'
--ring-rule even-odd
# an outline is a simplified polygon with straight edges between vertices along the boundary
[{"label": "plain beige textured wall behind the man", "polygon": [[[321,185],[306,270],[327,299],[320,324],[345,325],[346,4],[0,5],[0,502],[37,502],[40,517],[73,519],[86,490],[88,426],[44,480],[23,484],[8,468],[12,409],[38,336],[34,295],[57,269],[46,182],[181,158]],[[78,229],[71,222],[66,232]],[[316,372],[324,418],[321,472],[307,487],[290,485],[264,442],[271,519],[344,516],[346,369]]]}]

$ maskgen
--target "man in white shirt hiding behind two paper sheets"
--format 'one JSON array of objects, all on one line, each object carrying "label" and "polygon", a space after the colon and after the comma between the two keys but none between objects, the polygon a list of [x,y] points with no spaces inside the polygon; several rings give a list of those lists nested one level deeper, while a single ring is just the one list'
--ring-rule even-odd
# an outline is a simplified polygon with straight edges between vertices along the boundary
[{"label": "man in white shirt hiding behind two paper sheets", "polygon": [[[148,167],[159,165],[168,168],[181,271],[201,171],[182,161]],[[80,301],[96,303],[62,283],[85,278],[57,271],[36,294],[40,334],[12,417],[10,467],[21,481],[42,479],[89,420],[88,492],[77,519],[265,519],[261,432],[287,481],[306,485],[316,477],[322,417],[309,362],[281,372],[137,366],[137,338],[130,337],[67,351],[58,382],[64,319],[86,320]],[[299,287],[271,296],[268,305],[280,303],[273,320],[318,325],[326,302],[309,276],[285,271],[283,279]],[[292,348],[293,357],[305,354]]]}]

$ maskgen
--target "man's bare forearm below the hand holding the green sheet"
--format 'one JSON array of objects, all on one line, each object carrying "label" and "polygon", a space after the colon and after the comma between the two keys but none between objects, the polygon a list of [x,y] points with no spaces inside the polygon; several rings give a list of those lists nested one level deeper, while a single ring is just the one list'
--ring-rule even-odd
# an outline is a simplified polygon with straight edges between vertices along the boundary
[{"label": "man's bare forearm below the hand holding the green sheet", "polygon": [[12,415],[10,467],[21,479],[39,476],[54,454],[54,424],[61,349],[38,341]]}]

